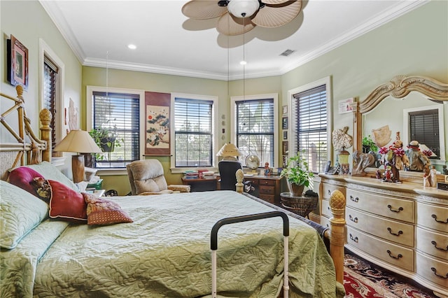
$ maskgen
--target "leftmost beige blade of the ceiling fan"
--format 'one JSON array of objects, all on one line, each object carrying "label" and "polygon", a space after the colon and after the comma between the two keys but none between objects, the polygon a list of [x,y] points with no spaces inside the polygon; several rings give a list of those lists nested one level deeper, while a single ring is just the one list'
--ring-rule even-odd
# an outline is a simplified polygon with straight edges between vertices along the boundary
[{"label": "leftmost beige blade of the ceiling fan", "polygon": [[227,13],[227,7],[218,6],[218,1],[191,0],[182,6],[182,13],[192,19],[207,20]]}]

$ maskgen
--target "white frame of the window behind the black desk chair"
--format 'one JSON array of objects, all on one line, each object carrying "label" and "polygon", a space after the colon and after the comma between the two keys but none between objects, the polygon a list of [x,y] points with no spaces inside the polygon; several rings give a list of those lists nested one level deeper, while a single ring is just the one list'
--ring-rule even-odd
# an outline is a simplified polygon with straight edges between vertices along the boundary
[{"label": "white frame of the window behind the black desk chair", "polygon": [[[254,94],[254,95],[241,95],[236,97],[230,97],[230,139],[232,143],[237,144],[237,101],[256,101],[261,99],[274,99],[274,164],[270,164],[269,167],[279,167],[279,94],[267,93],[267,94]],[[245,156],[242,158],[246,158]],[[260,161],[262,162],[262,161]],[[264,162],[263,162],[264,164]],[[260,167],[263,166],[260,164]]]}]

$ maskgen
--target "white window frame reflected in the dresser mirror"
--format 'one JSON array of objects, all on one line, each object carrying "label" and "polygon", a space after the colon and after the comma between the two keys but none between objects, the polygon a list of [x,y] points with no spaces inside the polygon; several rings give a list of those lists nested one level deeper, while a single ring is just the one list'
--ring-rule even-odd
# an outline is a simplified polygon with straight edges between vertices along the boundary
[{"label": "white window frame reflected in the dresser mirror", "polygon": [[440,158],[431,158],[431,163],[433,164],[444,164],[446,161],[446,154],[443,154],[443,152],[446,151],[445,147],[445,132],[444,132],[444,125],[440,125],[444,123],[444,117],[443,117],[443,106],[444,104],[435,104],[430,106],[419,106],[416,108],[403,108],[403,135],[402,135],[402,141],[403,144],[409,144],[409,113],[412,112],[423,112],[428,110],[437,110],[438,111],[438,117],[439,117],[439,144],[440,144]]}]

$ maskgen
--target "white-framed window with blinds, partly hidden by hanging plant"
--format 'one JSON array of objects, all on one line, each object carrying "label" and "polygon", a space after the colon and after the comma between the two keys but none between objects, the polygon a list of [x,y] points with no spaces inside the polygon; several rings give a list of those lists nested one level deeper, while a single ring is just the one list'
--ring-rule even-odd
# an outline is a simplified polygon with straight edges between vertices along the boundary
[{"label": "white-framed window with blinds, partly hidden by hanging plant", "polygon": [[141,108],[144,92],[87,86],[87,127],[106,127],[116,134],[113,152],[104,152],[95,160],[97,169],[124,169],[126,164],[140,159],[141,127],[144,127]]}]

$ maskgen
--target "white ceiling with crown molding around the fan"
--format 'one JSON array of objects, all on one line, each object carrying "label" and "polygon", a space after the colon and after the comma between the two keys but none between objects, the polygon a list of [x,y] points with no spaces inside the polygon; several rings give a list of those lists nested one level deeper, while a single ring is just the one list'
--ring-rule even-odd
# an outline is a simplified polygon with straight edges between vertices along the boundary
[{"label": "white ceiling with crown molding around the fan", "polygon": [[[216,31],[217,19],[183,15],[187,1],[39,1],[85,66],[218,80],[281,75],[428,2],[303,1],[283,27],[228,37]],[[280,55],[288,49],[295,52]]]}]

